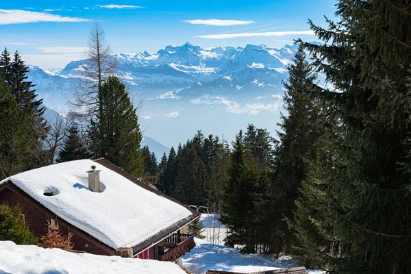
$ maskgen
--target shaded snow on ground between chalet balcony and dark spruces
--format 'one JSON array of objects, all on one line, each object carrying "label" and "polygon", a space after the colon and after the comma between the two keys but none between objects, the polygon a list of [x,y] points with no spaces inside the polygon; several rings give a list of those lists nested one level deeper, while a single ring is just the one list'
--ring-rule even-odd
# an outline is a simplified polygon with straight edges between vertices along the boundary
[{"label": "shaded snow on ground between chalet balcony and dark spruces", "polygon": [[[207,270],[249,273],[300,266],[288,256],[276,260],[273,256],[244,254],[238,249],[225,247],[223,240],[227,229],[219,222],[218,217],[219,215],[214,214],[201,214],[200,219],[205,229],[203,235],[207,237],[203,240],[195,238],[197,247],[182,257],[184,267],[192,273],[203,274]],[[323,271],[308,272],[323,273]]]}]

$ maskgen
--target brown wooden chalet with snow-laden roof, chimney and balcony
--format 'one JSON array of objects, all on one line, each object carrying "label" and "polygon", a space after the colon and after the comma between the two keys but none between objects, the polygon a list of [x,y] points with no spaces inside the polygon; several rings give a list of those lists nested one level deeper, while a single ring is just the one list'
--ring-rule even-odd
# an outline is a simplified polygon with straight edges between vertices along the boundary
[{"label": "brown wooden chalet with snow-laden roof, chimney and balcony", "polygon": [[38,236],[47,220],[62,234],[72,232],[77,252],[175,262],[195,247],[182,232],[199,212],[103,158],[13,175],[0,182],[3,202],[19,204]]}]

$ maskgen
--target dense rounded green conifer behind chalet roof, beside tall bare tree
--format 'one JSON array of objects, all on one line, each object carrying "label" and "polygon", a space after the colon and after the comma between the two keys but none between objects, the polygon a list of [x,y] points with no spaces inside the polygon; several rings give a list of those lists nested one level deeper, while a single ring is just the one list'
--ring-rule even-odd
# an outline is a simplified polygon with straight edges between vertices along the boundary
[{"label": "dense rounded green conifer behind chalet roof, beside tall bare tree", "polygon": [[99,114],[90,121],[88,135],[94,158],[104,157],[135,177],[143,174],[138,116],[118,77],[99,88]]}]

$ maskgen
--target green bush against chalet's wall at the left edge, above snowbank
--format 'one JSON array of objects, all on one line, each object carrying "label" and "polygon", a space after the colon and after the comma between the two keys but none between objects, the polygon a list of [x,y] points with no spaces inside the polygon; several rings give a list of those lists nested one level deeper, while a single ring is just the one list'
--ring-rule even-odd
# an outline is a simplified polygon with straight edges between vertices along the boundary
[{"label": "green bush against chalet's wall at the left edge, above snowbank", "polygon": [[0,205],[0,240],[11,240],[16,245],[37,245],[38,238],[23,223],[20,206]]}]

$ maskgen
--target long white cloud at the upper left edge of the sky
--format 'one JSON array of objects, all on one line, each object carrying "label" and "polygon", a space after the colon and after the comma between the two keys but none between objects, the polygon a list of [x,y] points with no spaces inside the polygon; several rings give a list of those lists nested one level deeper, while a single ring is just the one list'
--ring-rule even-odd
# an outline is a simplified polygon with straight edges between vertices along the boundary
[{"label": "long white cloud at the upper left edge of the sky", "polygon": [[37,23],[37,22],[87,22],[84,18],[66,17],[47,12],[30,12],[28,10],[0,9],[0,25]]}]

